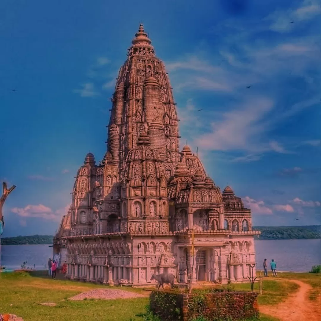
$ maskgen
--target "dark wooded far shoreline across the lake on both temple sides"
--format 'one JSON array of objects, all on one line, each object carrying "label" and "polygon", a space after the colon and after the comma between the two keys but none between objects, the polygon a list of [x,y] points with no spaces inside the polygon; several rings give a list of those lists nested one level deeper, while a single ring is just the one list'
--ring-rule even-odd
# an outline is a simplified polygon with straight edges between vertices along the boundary
[{"label": "dark wooded far shoreline across the lake on both temple sides", "polygon": [[[321,225],[307,226],[253,226],[260,230],[258,240],[321,239]],[[1,245],[52,245],[52,235],[14,236],[1,239]]]}]

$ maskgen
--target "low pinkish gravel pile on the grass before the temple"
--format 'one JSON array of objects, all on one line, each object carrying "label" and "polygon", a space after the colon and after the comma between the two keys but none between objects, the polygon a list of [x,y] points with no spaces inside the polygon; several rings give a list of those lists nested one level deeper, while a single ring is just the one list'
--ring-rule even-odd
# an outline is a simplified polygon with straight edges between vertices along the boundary
[{"label": "low pinkish gravel pile on the grass before the temple", "polygon": [[88,292],[82,292],[75,295],[69,300],[83,300],[83,299],[133,299],[143,298],[144,296],[138,293],[123,291],[123,290],[112,290],[112,289],[94,289]]}]

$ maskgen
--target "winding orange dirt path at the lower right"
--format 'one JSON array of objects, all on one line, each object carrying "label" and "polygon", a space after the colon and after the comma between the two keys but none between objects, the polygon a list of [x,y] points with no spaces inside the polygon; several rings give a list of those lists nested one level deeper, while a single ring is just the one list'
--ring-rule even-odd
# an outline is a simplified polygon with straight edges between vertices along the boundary
[{"label": "winding orange dirt path at the lower right", "polygon": [[[279,318],[282,321],[318,321],[321,308],[318,301],[308,299],[308,291],[312,287],[298,280],[287,280],[297,283],[300,287],[284,302],[273,306],[260,306],[260,312]],[[318,317],[319,316],[319,317]]]}]

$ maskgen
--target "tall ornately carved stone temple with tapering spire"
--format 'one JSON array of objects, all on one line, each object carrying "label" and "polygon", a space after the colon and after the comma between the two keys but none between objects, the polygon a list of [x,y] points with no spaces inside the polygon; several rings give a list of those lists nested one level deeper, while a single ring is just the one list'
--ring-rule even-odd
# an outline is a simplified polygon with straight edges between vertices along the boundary
[{"label": "tall ornately carved stone temple with tapering spire", "polygon": [[183,284],[248,281],[260,232],[233,190],[221,192],[190,147],[179,149],[168,73],[142,24],[111,100],[105,156],[97,165],[86,155],[54,238],[66,278],[134,286],[153,284],[153,273],[173,273]]}]

